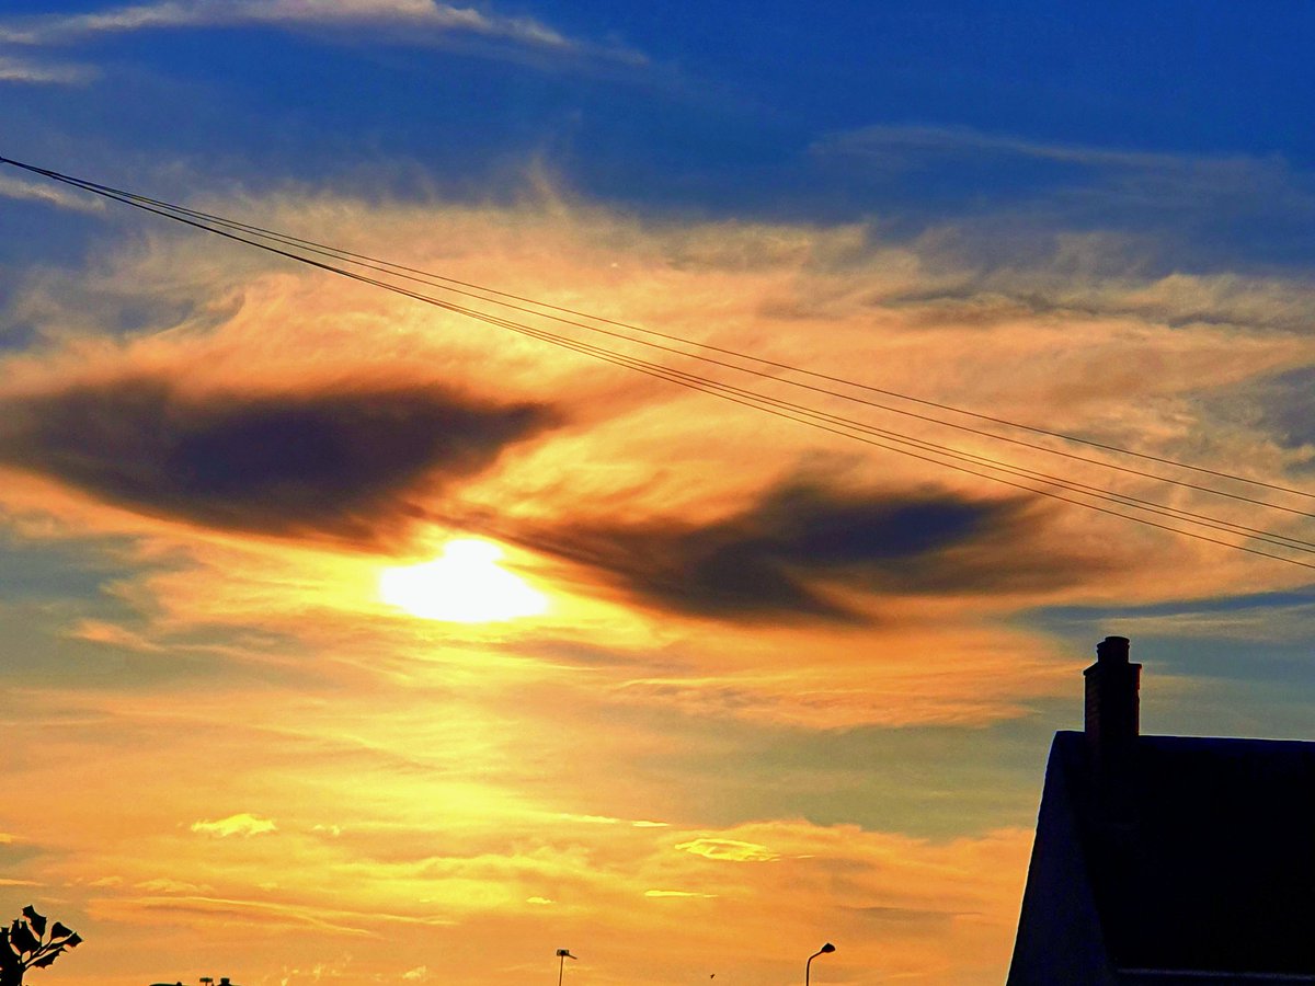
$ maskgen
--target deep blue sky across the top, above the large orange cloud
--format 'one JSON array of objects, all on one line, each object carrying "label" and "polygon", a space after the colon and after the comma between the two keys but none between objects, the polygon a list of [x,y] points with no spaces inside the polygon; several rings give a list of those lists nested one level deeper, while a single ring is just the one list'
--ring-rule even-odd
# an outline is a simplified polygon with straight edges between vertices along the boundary
[{"label": "deep blue sky across the top, above the large orange cloud", "polygon": [[[107,8],[12,4],[9,22],[28,14],[45,43],[11,42],[9,59],[93,62],[99,79],[7,100],[9,150],[108,143],[120,168],[187,154],[238,176],[350,175],[387,155],[456,187],[533,155],[639,208],[849,218],[999,208],[1089,184],[1118,153],[1130,168],[1152,155],[1244,159],[1294,180],[1315,162],[1312,14],[1295,3],[1264,17],[1223,3],[497,11],[569,50],[462,30],[408,37],[384,18],[259,22],[238,7],[204,30],[60,32],[60,11]],[[818,162],[872,128],[889,167],[861,154]],[[924,130],[945,131],[939,146],[902,138]]]}]

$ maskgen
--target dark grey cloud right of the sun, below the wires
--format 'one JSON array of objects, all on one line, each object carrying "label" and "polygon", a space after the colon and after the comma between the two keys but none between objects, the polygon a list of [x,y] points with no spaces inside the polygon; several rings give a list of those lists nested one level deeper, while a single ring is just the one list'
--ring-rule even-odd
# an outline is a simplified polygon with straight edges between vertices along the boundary
[{"label": "dark grey cloud right of the sun, below the wires", "polygon": [[846,594],[995,593],[1072,581],[1069,560],[1027,536],[1039,522],[1040,510],[1022,498],[790,482],[706,525],[568,521],[526,540],[656,609],[864,622]]}]

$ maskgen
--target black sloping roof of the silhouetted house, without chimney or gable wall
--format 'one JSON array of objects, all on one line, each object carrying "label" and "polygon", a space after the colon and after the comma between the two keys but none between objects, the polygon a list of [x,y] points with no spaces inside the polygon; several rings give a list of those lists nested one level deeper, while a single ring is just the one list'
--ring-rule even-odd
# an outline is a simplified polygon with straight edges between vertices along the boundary
[{"label": "black sloping roof of the silhouetted house, without chimney or gable wall", "polygon": [[1140,736],[1105,787],[1084,734],[1052,756],[1120,973],[1315,977],[1315,743]]}]

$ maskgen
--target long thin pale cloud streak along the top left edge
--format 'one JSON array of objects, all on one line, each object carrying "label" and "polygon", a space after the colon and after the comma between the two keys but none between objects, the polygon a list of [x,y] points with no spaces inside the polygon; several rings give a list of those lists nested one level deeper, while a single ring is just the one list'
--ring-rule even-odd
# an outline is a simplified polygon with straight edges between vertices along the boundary
[{"label": "long thin pale cloud streak along the top left edge", "polygon": [[0,41],[12,45],[71,43],[101,34],[184,28],[260,25],[302,30],[373,30],[408,43],[433,43],[450,35],[484,38],[568,55],[605,57],[639,63],[622,47],[568,38],[527,16],[456,7],[439,0],[162,0],[66,16],[0,22]]}]

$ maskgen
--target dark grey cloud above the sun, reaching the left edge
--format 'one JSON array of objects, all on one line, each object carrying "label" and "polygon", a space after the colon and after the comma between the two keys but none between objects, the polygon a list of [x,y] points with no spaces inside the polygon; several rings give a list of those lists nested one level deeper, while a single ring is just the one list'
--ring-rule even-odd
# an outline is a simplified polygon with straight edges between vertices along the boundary
[{"label": "dark grey cloud above the sun, reaching the left edge", "polygon": [[0,401],[0,463],[149,514],[370,542],[416,514],[408,493],[552,422],[425,384],[193,394],[129,376]]}]

